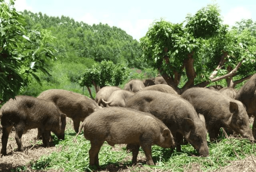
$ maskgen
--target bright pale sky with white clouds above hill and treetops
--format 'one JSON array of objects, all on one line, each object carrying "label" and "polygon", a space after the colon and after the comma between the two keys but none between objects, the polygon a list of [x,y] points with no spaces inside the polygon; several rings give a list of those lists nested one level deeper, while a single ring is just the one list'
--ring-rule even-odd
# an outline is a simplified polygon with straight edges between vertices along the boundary
[{"label": "bright pale sky with white clouds above hill and treetops", "polygon": [[256,21],[255,0],[15,0],[17,11],[25,9],[47,16],[69,16],[89,25],[108,24],[139,41],[156,20],[181,23],[207,4],[218,4],[224,24],[242,19]]}]

